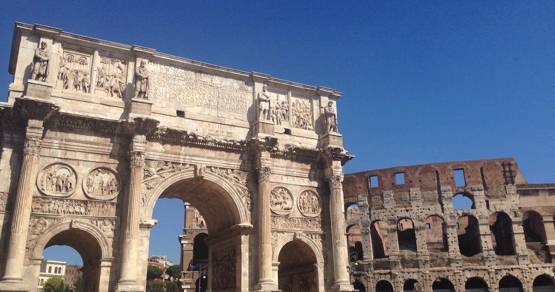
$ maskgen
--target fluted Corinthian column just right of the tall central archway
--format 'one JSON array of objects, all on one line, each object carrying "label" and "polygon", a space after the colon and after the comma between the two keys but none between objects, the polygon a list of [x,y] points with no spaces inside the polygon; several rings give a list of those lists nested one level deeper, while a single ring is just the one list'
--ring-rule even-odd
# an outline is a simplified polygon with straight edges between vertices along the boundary
[{"label": "fluted Corinthian column just right of the tall central archway", "polygon": [[272,238],[270,215],[270,182],[271,168],[258,167],[258,251],[259,270],[256,290],[276,290],[272,276]]}]

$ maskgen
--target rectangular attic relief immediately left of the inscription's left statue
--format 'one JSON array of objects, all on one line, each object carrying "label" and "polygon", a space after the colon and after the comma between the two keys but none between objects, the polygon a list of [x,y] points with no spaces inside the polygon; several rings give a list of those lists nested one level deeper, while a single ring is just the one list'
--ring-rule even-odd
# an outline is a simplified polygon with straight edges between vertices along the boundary
[{"label": "rectangular attic relief immediately left of the inscription's left statue", "polygon": [[124,59],[100,56],[94,93],[124,99],[125,85],[127,84],[126,72],[127,61]]}]

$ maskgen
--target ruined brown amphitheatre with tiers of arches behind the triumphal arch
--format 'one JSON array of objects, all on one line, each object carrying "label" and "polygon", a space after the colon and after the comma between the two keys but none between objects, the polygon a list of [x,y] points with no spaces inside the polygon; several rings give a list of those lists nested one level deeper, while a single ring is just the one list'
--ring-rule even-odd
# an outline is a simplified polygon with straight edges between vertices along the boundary
[{"label": "ruined brown amphitheatre with tiers of arches behind the triumphal arch", "polygon": [[512,158],[346,174],[344,192],[355,289],[555,291],[555,184]]}]

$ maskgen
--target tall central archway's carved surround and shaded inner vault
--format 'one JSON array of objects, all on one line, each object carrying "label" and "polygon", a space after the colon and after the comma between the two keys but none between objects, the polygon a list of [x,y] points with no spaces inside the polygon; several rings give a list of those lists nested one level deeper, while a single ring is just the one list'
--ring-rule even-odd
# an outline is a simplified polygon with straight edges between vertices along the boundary
[{"label": "tall central archway's carved surround and shaded inner vault", "polygon": [[[143,184],[142,220],[151,220],[159,198],[176,198],[194,207],[204,218],[208,236],[208,290],[236,290],[248,286],[243,270],[249,265],[248,242],[252,232],[249,192],[244,184],[226,175],[231,170],[200,167],[186,169]],[[243,174],[245,174],[243,172]],[[153,186],[148,190],[149,186]],[[155,218],[153,218],[155,219]],[[155,228],[155,227],[154,227]],[[143,233],[148,234],[148,230]],[[148,252],[148,251],[147,251]],[[148,255],[142,255],[145,257]]]}]

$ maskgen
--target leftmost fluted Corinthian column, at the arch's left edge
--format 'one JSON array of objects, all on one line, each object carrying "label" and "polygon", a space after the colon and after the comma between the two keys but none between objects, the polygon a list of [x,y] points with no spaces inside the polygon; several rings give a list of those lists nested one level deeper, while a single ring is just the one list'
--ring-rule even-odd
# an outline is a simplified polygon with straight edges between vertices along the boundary
[{"label": "leftmost fluted Corinthian column, at the arch's left edge", "polygon": [[23,260],[27,243],[33,186],[37,177],[37,161],[41,151],[41,140],[27,138],[23,147],[23,163],[19,174],[16,202],[13,207],[12,228],[9,234],[6,270],[2,282],[4,284],[21,283],[23,285]]}]

